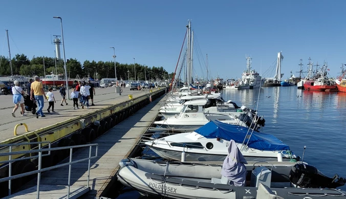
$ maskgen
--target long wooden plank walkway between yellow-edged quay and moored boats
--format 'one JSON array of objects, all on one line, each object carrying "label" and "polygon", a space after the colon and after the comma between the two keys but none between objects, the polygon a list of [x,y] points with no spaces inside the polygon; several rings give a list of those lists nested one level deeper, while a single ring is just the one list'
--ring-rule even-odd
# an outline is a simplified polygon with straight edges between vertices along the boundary
[{"label": "long wooden plank walkway between yellow-edged quay and moored boats", "polygon": [[[161,98],[162,97],[159,97],[156,101],[137,111],[134,115],[126,118],[124,121],[110,129],[107,133],[92,141],[92,143],[99,144],[98,157],[91,161],[91,191],[84,194],[82,196],[83,198],[94,198],[96,195],[100,195],[107,183],[112,179],[120,160],[126,158],[129,151],[140,139],[140,135],[147,130],[158,115],[158,109],[160,107],[158,102]],[[95,149],[92,151],[92,156],[93,154],[95,154]],[[89,156],[89,147],[81,148],[73,154],[73,160],[82,159],[87,156]],[[62,162],[68,162],[68,158]],[[65,166],[42,173],[41,185],[66,186],[68,184],[68,171],[69,167]],[[71,172],[71,189],[72,187],[73,189],[76,189],[76,187],[86,186],[87,175],[88,161],[73,164]],[[36,182],[37,179],[32,180],[27,183],[23,189],[35,186]],[[34,188],[36,188],[36,186]],[[52,192],[54,192],[54,194],[60,192],[61,197],[67,193],[67,191],[64,191],[63,189],[61,189],[61,191],[52,190]],[[22,193],[22,191],[16,194],[20,193]],[[26,194],[35,195],[35,193],[36,191],[34,193],[30,192]],[[26,194],[24,194],[23,197],[25,197]],[[49,195],[49,192],[45,192],[45,194],[41,195],[40,198],[52,198],[51,196],[53,195]]]}]

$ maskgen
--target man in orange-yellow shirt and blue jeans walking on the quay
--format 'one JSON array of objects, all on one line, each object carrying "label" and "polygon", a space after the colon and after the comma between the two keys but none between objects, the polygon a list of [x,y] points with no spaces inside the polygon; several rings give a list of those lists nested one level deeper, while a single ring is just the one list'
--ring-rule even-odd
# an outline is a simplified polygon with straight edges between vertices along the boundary
[{"label": "man in orange-yellow shirt and blue jeans walking on the quay", "polygon": [[44,106],[45,106],[45,101],[44,101],[44,96],[47,99],[47,96],[45,94],[45,90],[43,89],[42,83],[39,81],[39,77],[35,76],[34,77],[34,82],[31,83],[31,100],[34,100],[32,96],[35,96],[36,102],[38,104],[38,109],[36,112],[36,118],[38,118],[38,114],[41,115],[41,117],[46,117],[44,113],[42,112]]}]

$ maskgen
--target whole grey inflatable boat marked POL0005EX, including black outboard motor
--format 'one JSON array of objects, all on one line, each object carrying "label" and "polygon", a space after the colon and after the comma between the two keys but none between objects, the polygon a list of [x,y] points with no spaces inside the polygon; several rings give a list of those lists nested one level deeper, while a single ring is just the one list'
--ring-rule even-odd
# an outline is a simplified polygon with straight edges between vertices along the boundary
[{"label": "whole grey inflatable boat marked POL0005EX, including black outboard motor", "polygon": [[221,175],[222,162],[124,159],[119,164],[117,178],[120,183],[149,197],[301,199],[346,196],[345,191],[335,189],[344,185],[344,179],[329,178],[317,168],[300,162],[265,162],[262,165],[248,162],[244,164],[246,186],[230,185],[232,181]]}]

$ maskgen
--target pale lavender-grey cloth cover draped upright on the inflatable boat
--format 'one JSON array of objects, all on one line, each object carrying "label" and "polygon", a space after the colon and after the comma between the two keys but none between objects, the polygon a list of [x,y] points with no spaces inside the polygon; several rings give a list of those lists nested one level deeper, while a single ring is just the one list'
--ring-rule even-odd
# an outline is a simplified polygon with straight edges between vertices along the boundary
[{"label": "pale lavender-grey cloth cover draped upright on the inflatable boat", "polygon": [[243,154],[236,146],[234,140],[230,140],[228,147],[228,156],[224,160],[221,175],[227,177],[231,182],[230,185],[246,185],[246,167],[247,164]]}]

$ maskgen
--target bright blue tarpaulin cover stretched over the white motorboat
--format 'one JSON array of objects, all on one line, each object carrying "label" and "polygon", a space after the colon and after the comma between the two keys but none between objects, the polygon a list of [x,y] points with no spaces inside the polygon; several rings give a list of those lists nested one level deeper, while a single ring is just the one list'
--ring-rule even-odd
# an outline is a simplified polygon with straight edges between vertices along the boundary
[{"label": "bright blue tarpaulin cover stretched over the white motorboat", "polygon": [[[194,132],[203,135],[206,138],[222,138],[224,140],[234,140],[237,143],[243,143],[249,128],[229,125],[221,121],[212,120],[203,127]],[[251,134],[251,130],[249,134]],[[249,137],[249,136],[248,136]],[[245,140],[247,143],[248,138]],[[290,147],[275,136],[270,134],[252,132],[248,146],[261,151],[290,150]]]}]

